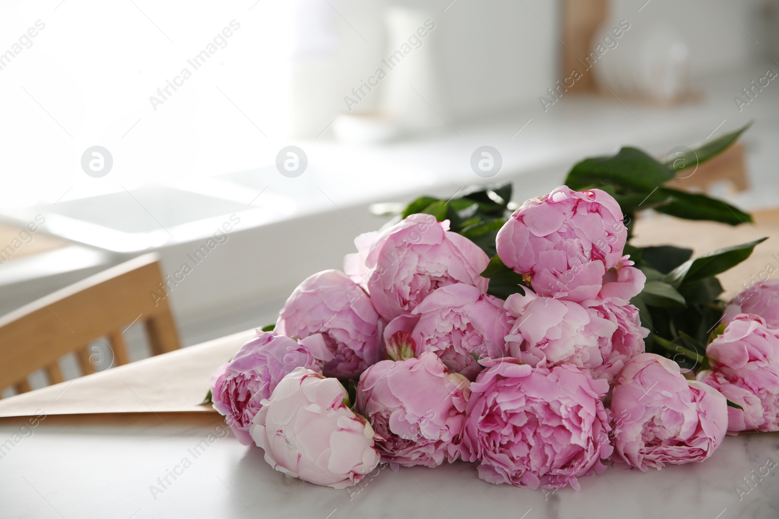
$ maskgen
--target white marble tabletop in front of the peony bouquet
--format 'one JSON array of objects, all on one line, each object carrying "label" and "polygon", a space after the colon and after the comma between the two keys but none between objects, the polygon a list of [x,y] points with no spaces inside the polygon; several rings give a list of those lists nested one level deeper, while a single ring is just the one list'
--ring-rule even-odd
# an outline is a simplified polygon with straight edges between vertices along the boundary
[{"label": "white marble tabletop in front of the peony bouquet", "polygon": [[[0,442],[19,435],[0,453],[0,517],[779,517],[779,466],[763,468],[779,461],[776,433],[728,437],[703,464],[608,469],[578,493],[494,486],[466,463],[382,468],[333,490],[273,471],[213,414],[48,416],[24,430],[28,421],[0,419]],[[743,479],[761,468],[739,500],[737,487],[749,489]]]}]

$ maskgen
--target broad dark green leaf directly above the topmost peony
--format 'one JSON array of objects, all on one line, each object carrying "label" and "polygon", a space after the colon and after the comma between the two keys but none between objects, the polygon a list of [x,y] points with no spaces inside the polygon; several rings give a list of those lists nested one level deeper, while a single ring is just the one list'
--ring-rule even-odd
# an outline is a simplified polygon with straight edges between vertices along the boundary
[{"label": "broad dark green leaf directly above the topmost peony", "polygon": [[[614,184],[649,195],[654,188],[674,177],[673,171],[640,149],[622,148],[612,156],[585,159],[566,177],[566,185],[577,191],[590,186]],[[624,209],[623,209],[624,210]]]}]

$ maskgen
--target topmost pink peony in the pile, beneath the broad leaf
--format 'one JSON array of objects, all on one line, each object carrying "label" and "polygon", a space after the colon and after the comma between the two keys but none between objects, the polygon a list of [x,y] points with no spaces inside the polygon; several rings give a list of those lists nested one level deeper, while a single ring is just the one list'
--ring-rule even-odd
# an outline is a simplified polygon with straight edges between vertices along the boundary
[{"label": "topmost pink peony in the pile, beneath the broad leaf", "polygon": [[503,263],[529,275],[539,295],[583,301],[601,291],[606,271],[622,259],[626,238],[612,195],[560,186],[517,209],[495,244]]}]

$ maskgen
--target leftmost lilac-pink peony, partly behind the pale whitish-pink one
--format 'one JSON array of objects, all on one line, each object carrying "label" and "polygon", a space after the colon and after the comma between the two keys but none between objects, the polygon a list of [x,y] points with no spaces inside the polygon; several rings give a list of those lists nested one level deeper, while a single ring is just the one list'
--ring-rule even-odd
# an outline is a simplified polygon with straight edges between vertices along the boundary
[{"label": "leftmost lilac-pink peony, partly behind the pale whitish-pink one", "polygon": [[320,373],[305,345],[284,335],[257,331],[256,338],[242,345],[230,362],[211,375],[213,409],[227,416],[227,425],[241,444],[252,443],[252,419],[284,375],[296,367]]}]

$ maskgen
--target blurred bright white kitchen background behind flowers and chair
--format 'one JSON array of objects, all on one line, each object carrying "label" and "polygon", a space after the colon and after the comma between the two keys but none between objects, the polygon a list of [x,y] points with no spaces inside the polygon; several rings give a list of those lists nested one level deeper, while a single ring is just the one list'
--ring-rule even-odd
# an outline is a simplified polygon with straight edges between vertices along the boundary
[{"label": "blurred bright white kitchen background behind flowers and chair", "polygon": [[779,205],[779,0],[0,0],[0,35],[0,314],[156,251],[196,344],[275,321],[377,203],[523,202],[750,120],[686,185]]}]

